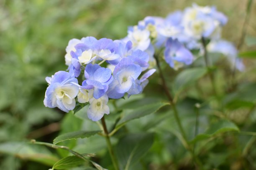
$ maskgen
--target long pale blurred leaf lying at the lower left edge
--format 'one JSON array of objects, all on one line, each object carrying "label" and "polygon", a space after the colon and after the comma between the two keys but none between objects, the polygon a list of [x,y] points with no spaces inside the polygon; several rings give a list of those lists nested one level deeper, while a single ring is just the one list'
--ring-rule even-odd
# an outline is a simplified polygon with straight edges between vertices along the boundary
[{"label": "long pale blurred leaf lying at the lower left edge", "polygon": [[52,166],[59,160],[47,148],[40,145],[32,145],[24,142],[7,142],[0,144],[0,153],[13,155],[20,159],[32,160]]}]

